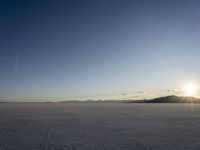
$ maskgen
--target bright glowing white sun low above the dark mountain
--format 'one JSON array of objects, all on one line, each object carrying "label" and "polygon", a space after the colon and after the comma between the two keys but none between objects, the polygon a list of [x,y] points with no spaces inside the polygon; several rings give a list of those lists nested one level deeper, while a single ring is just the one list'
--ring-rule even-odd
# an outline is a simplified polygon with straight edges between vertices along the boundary
[{"label": "bright glowing white sun low above the dark mountain", "polygon": [[194,96],[198,91],[198,85],[195,83],[187,83],[184,86],[184,92],[187,96]]}]

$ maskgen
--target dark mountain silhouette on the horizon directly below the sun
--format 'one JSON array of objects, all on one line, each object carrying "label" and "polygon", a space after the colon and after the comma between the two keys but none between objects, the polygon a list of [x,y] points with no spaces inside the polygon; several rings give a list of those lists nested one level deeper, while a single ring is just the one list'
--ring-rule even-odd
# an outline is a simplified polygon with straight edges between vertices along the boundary
[{"label": "dark mountain silhouette on the horizon directly below the sun", "polygon": [[194,97],[183,97],[183,96],[166,96],[166,97],[158,97],[152,100],[146,100],[143,103],[200,103],[199,98]]}]

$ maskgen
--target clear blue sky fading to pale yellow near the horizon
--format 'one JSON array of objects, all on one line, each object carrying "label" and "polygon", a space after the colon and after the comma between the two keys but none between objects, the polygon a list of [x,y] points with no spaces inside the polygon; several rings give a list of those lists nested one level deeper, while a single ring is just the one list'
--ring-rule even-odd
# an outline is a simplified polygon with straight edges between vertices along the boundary
[{"label": "clear blue sky fading to pale yellow near the horizon", "polygon": [[200,80],[199,8],[199,0],[2,0],[0,101],[182,95]]}]

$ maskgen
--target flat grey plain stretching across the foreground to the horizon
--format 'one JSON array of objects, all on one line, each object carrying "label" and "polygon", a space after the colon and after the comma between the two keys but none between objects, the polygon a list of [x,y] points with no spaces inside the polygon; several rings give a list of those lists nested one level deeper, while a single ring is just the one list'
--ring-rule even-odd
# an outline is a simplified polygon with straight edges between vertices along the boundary
[{"label": "flat grey plain stretching across the foreground to the horizon", "polygon": [[199,149],[200,104],[0,104],[0,150]]}]

